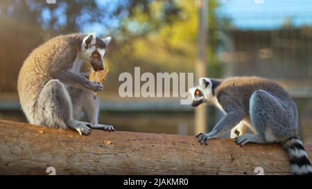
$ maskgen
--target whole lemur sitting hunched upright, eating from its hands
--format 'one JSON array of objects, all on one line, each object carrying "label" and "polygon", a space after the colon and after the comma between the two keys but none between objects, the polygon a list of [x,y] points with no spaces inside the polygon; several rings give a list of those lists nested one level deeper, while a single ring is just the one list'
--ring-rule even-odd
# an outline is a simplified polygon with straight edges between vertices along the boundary
[{"label": "whole lemur sitting hunched upright, eating from its hands", "polygon": [[[90,82],[80,66],[90,62],[103,70],[103,56],[111,37],[95,34],[60,35],[37,47],[25,60],[17,81],[21,108],[31,124],[76,129],[89,134],[91,128],[114,131],[98,124],[98,99],[103,85]],[[80,121],[82,114],[86,121]]]}]

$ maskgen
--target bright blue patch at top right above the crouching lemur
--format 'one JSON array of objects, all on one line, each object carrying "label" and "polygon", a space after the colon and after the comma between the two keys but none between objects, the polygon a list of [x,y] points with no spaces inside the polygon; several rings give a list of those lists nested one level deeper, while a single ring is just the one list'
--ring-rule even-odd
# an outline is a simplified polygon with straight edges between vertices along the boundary
[{"label": "bright blue patch at top right above the crouching lemur", "polygon": [[312,25],[311,0],[219,0],[218,12],[238,28],[277,28],[292,18],[295,26]]}]

